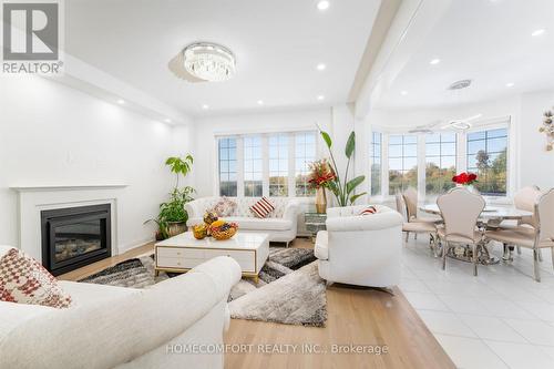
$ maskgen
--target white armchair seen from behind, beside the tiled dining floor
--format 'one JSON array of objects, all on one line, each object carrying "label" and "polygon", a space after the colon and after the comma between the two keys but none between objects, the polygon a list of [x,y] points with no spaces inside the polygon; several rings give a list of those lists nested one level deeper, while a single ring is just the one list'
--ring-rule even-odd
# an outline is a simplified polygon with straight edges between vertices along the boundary
[{"label": "white armchair seen from behind, beside the tiled dining floor", "polygon": [[327,209],[327,230],[316,238],[319,276],[328,283],[392,287],[400,283],[402,216],[387,206],[359,215],[367,205]]}]

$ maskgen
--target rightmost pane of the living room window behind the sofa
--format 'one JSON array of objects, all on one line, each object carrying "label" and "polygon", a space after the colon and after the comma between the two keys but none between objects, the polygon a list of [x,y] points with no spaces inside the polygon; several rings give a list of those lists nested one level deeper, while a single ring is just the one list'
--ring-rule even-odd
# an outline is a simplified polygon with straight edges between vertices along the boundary
[{"label": "rightmost pane of the living room window behind the sofa", "polygon": [[308,185],[309,164],[316,161],[316,133],[295,134],[295,187],[296,196],[311,196],[315,189]]}]

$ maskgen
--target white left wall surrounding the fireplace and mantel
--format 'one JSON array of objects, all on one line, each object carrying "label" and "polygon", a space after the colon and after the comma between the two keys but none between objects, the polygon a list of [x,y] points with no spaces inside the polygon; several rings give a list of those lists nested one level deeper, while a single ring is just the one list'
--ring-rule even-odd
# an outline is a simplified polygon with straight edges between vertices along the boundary
[{"label": "white left wall surrounding the fireplace and mantel", "polygon": [[119,203],[120,252],[153,236],[173,185],[164,160],[188,150],[186,127],[41,78],[0,80],[0,244],[17,245],[17,193],[10,186],[126,184]]}]

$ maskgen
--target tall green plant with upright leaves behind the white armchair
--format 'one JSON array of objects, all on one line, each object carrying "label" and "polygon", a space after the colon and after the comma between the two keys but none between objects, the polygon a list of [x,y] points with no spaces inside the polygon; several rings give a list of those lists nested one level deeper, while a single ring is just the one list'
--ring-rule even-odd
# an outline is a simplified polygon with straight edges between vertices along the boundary
[{"label": "tall green plant with upright leaves behind the white armchair", "polygon": [[339,206],[348,206],[350,204],[353,204],[356,199],[360,196],[366,195],[367,193],[360,193],[360,194],[355,194],[356,187],[358,187],[365,180],[365,175],[359,175],[352,180],[348,180],[348,172],[350,170],[350,162],[352,160],[353,152],[356,150],[356,134],[355,132],[351,132],[350,135],[348,136],[348,141],[345,147],[345,155],[347,157],[347,165],[345,170],[345,176],[342,180],[339,176],[339,171],[337,167],[337,163],[335,162],[335,156],[332,155],[332,140],[331,136],[319,129],[319,134],[325,141],[325,144],[327,145],[327,148],[329,151],[329,156],[330,156],[330,162],[331,162],[331,168],[335,172],[335,178],[332,181],[329,181],[326,183],[326,187],[335,195],[337,198],[337,203]]}]

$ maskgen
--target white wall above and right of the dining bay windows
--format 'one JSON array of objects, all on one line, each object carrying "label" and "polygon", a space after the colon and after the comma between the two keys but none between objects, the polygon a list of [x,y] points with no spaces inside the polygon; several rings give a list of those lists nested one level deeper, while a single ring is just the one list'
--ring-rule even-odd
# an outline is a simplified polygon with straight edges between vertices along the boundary
[{"label": "white wall above and right of the dining bay windows", "polygon": [[[522,186],[536,184],[541,188],[554,187],[554,153],[545,151],[545,136],[538,132],[542,114],[554,105],[554,91],[533,92],[449,109],[382,111],[373,110],[366,129],[397,132],[425,125],[437,120],[454,120],[483,114],[483,121],[511,116],[510,171],[513,194]],[[479,121],[475,121],[479,123]],[[368,144],[369,135],[365,136]],[[368,171],[366,167],[366,171]]]}]

